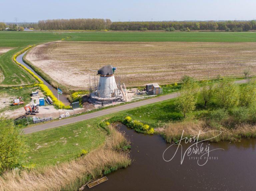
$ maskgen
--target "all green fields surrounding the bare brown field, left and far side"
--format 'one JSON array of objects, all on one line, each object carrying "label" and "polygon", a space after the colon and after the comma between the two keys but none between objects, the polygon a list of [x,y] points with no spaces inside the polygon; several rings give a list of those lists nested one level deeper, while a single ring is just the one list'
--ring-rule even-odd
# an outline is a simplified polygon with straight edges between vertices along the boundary
[{"label": "all green fields surrounding the bare brown field, left and far side", "polygon": [[0,72],[5,79],[1,85],[34,83],[35,79],[15,64],[11,58],[28,45],[61,40],[68,41],[126,41],[126,42],[256,42],[252,32],[0,32],[0,47],[16,47],[0,56]]}]

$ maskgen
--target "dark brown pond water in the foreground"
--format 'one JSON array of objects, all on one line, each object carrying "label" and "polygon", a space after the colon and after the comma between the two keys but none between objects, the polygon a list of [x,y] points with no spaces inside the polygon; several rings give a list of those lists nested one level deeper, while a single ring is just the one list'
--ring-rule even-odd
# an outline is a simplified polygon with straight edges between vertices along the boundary
[{"label": "dark brown pond water in the foreground", "polygon": [[[218,159],[199,166],[188,156],[180,164],[180,149],[173,160],[165,162],[162,155],[170,144],[162,137],[139,134],[123,125],[119,128],[131,141],[132,165],[107,175],[108,181],[90,190],[255,190],[255,139],[210,143],[211,149],[225,150],[212,151],[210,156]],[[183,144],[183,149],[188,146]],[[176,148],[170,147],[168,154],[173,155]]]}]

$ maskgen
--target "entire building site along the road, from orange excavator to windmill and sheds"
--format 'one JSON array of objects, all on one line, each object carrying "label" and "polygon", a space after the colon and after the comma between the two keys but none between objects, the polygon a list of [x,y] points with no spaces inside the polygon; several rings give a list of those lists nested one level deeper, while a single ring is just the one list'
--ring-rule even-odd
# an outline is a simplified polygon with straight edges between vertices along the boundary
[{"label": "entire building site along the road, from orange excavator to windmill and sheds", "polygon": [[[115,77],[116,70],[117,68],[111,65],[105,65],[99,70],[92,70],[94,74],[89,75],[89,94],[80,95],[81,102],[68,102],[71,109],[57,109],[49,96],[45,96],[40,89],[35,89],[30,93],[29,103],[25,103],[22,97],[17,97],[13,99],[11,105],[13,107],[22,105],[23,107],[7,110],[4,114],[10,118],[29,118],[30,121],[33,120],[33,123],[39,123],[90,112],[102,107],[141,100],[162,93],[162,89],[157,83],[145,84],[144,89],[127,88],[125,83],[121,82],[120,76]],[[47,85],[50,86],[50,84]],[[52,86],[51,88],[53,89]],[[57,92],[56,89],[55,91]],[[65,97],[65,95],[61,96]]]}]

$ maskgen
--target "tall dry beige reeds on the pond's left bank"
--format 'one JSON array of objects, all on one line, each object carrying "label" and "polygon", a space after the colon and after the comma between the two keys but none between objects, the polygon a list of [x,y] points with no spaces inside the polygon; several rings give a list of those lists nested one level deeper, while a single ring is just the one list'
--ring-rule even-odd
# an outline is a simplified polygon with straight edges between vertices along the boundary
[{"label": "tall dry beige reeds on the pond's left bank", "polygon": [[90,179],[102,175],[104,170],[124,168],[131,164],[127,153],[116,150],[124,142],[120,132],[112,126],[104,146],[91,151],[79,159],[56,166],[30,171],[8,171],[0,177],[0,190],[8,191],[55,191],[77,190]]}]

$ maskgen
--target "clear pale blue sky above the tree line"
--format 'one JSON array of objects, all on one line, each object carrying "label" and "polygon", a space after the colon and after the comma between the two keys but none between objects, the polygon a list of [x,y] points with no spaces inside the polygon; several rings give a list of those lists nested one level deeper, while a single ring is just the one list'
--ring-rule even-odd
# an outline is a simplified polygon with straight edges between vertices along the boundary
[{"label": "clear pale blue sky above the tree line", "polygon": [[1,0],[0,22],[107,18],[112,21],[252,20],[256,0]]}]

